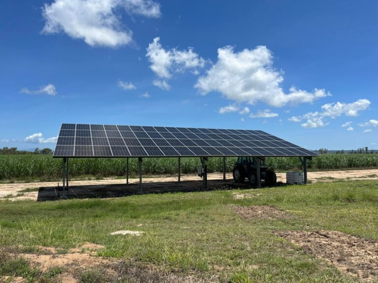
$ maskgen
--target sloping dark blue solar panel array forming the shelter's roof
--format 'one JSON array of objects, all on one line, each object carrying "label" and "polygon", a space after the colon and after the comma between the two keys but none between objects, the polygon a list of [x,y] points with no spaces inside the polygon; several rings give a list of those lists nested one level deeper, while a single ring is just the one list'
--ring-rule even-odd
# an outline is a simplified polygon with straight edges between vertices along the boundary
[{"label": "sloping dark blue solar panel array forming the shelter's roof", "polygon": [[54,157],[316,156],[263,131],[62,124]]}]

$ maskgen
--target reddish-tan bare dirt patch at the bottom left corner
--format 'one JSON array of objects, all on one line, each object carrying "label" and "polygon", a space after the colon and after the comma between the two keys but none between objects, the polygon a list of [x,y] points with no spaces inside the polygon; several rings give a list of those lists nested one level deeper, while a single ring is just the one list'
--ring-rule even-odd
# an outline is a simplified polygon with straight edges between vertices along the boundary
[{"label": "reddish-tan bare dirt patch at the bottom left corner", "polygon": [[[10,253],[11,258],[25,258],[31,267],[38,268],[40,272],[46,272],[51,268],[59,268],[61,273],[53,282],[78,283],[83,281],[83,273],[94,273],[95,282],[130,282],[130,283],[215,283],[218,278],[202,278],[201,274],[180,275],[166,273],[162,268],[131,260],[119,260],[97,256],[97,252],[104,249],[103,246],[86,243],[80,247],[70,249],[61,254],[60,250],[53,247],[36,246],[35,253]],[[22,251],[23,247],[17,247]],[[0,277],[0,283],[26,283],[22,277]],[[42,281],[44,282],[44,281]],[[92,282],[92,281],[91,281]]]}]

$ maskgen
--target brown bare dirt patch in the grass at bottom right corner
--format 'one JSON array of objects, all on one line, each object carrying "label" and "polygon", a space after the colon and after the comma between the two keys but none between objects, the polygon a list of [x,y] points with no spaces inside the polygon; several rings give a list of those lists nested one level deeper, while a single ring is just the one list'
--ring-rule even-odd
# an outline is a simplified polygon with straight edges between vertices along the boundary
[{"label": "brown bare dirt patch in the grass at bottom right corner", "polygon": [[337,231],[285,231],[278,235],[359,279],[376,280],[378,243]]}]

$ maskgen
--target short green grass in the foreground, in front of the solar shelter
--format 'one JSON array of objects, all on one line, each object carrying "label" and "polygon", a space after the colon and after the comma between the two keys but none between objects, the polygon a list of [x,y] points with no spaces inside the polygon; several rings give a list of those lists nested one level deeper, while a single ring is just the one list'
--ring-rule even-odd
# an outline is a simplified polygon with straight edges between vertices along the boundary
[{"label": "short green grass in the foreground, in front of the solar shelter", "polygon": [[[236,192],[258,197],[235,199]],[[191,276],[192,282],[212,277],[219,282],[355,282],[275,232],[326,229],[378,241],[377,201],[376,181],[117,199],[2,200],[0,245],[22,245],[35,253],[35,245],[42,245],[64,253],[91,242],[105,247],[98,255],[159,266],[167,274]],[[273,205],[290,217],[247,220],[234,211],[235,205]],[[145,233],[109,235],[122,229]],[[13,264],[23,266],[21,275],[29,282],[42,277],[40,282],[50,282],[27,262],[9,260],[0,257],[0,276],[12,275]],[[90,282],[83,276],[81,282]],[[130,282],[123,280],[115,282]]]}]

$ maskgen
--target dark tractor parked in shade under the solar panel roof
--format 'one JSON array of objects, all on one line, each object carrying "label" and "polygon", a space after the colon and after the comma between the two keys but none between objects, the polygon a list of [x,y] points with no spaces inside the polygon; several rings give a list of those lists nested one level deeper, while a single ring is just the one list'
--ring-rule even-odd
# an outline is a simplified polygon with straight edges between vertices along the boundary
[{"label": "dark tractor parked in shade under the solar panel roof", "polygon": [[238,157],[233,170],[233,178],[236,183],[244,183],[248,178],[252,185],[256,184],[257,165],[260,165],[260,179],[265,181],[267,186],[273,186],[277,182],[276,173],[273,170],[268,170],[265,163],[265,157]]}]

